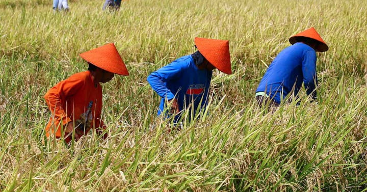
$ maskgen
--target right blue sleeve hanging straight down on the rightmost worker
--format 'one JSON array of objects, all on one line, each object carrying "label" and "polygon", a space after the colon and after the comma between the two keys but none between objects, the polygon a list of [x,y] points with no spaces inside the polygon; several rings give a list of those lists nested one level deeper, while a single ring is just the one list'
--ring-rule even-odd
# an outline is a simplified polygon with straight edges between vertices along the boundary
[{"label": "right blue sleeve hanging straight down on the rightmost worker", "polygon": [[312,99],[317,98],[315,90],[318,85],[316,74],[316,60],[317,60],[316,52],[313,50],[309,50],[305,52],[302,61],[303,83],[307,95],[312,94]]}]

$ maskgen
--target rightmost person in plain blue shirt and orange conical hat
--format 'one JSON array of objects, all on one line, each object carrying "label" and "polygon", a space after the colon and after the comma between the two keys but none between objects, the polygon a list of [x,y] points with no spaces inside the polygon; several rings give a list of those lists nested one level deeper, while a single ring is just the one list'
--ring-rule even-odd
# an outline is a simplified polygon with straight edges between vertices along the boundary
[{"label": "rightmost person in plain blue shirt and orange conical hat", "polygon": [[277,107],[291,92],[297,97],[302,83],[307,95],[317,99],[316,51],[327,51],[329,47],[314,28],[292,36],[289,41],[292,45],[277,55],[256,89],[260,106]]}]

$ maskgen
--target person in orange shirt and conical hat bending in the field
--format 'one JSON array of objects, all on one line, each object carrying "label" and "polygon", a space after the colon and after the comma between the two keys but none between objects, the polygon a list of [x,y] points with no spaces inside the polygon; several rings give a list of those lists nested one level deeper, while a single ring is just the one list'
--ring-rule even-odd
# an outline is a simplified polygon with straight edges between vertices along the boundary
[{"label": "person in orange shirt and conical hat bending in the field", "polygon": [[[106,128],[100,119],[102,88],[100,83],[110,81],[114,74],[129,75],[113,43],[103,45],[80,56],[88,62],[88,70],[71,75],[51,88],[44,96],[51,112],[46,126],[46,136],[54,134],[66,142],[75,140],[96,128],[97,133]],[[104,138],[107,134],[105,133]]]}]

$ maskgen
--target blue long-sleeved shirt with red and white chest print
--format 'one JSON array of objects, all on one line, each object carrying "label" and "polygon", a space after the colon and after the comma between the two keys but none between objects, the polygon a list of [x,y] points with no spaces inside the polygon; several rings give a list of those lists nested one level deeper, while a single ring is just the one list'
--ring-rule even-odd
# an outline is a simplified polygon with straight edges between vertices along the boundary
[{"label": "blue long-sleeved shirt with red and white chest print", "polygon": [[212,70],[198,69],[191,55],[183,56],[152,72],[147,81],[162,97],[158,115],[164,111],[166,98],[176,98],[180,111],[191,104],[195,111],[198,107],[205,107],[211,79]]}]

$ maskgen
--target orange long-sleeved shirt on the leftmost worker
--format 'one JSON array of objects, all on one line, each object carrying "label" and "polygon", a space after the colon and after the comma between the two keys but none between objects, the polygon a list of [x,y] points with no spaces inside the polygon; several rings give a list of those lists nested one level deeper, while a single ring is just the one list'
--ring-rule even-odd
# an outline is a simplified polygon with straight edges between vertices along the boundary
[{"label": "orange long-sleeved shirt on the leftmost worker", "polygon": [[[94,87],[93,78],[90,71],[73,74],[68,79],[61,81],[51,88],[44,96],[46,103],[51,111],[51,118],[46,126],[46,136],[51,133],[56,138],[62,136],[61,125],[66,131],[65,125],[80,119],[81,114],[85,113],[90,101],[93,101],[91,108],[92,122],[91,128],[104,128],[103,121],[100,119],[102,110],[102,88],[97,85]],[[99,129],[97,129],[98,131]],[[89,129],[86,131],[86,133]],[[65,132],[65,135],[68,132]],[[104,135],[107,136],[107,135]],[[71,137],[65,138],[69,142]]]}]

